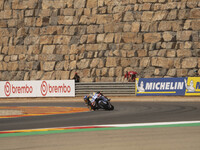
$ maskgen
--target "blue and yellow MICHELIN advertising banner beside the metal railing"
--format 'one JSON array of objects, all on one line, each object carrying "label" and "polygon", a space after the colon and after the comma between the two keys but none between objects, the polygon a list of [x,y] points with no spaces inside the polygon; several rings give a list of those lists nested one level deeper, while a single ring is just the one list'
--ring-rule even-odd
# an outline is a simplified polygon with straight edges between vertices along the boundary
[{"label": "blue and yellow MICHELIN advertising banner beside the metal railing", "polygon": [[137,78],[136,96],[200,96],[200,77]]}]

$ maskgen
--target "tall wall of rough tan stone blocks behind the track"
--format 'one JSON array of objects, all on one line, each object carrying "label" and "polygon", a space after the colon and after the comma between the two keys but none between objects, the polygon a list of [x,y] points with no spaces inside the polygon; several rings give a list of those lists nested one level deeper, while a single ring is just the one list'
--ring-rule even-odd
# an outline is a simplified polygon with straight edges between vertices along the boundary
[{"label": "tall wall of rough tan stone blocks behind the track", "polygon": [[0,80],[200,74],[199,0],[1,0]]}]

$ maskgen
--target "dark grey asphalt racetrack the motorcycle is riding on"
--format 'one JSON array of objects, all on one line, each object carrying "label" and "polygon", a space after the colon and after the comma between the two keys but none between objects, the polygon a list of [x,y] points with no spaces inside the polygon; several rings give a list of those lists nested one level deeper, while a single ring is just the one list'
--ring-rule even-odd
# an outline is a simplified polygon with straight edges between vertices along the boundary
[{"label": "dark grey asphalt racetrack the motorcycle is riding on", "polygon": [[[112,102],[114,111],[0,119],[0,131],[84,125],[200,120],[199,102]],[[83,102],[16,103],[1,106],[86,107]]]}]

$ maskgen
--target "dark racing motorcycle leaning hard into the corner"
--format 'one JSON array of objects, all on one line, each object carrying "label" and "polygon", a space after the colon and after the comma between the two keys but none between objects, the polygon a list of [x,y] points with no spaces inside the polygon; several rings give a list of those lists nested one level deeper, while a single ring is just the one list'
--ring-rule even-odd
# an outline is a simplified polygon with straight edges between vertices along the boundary
[{"label": "dark racing motorcycle leaning hard into the corner", "polygon": [[88,106],[90,110],[99,110],[99,109],[104,109],[104,110],[114,110],[114,106],[110,103],[110,99],[108,99],[106,96],[106,101],[102,99],[102,96],[99,96],[98,98],[95,99],[95,104],[91,103],[91,98],[93,95],[85,96],[84,101],[85,104]]}]

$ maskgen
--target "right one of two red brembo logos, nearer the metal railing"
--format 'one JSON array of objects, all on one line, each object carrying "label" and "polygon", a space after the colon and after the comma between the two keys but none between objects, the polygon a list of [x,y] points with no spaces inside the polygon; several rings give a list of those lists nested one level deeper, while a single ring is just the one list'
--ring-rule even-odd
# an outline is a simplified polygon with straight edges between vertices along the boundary
[{"label": "right one of two red brembo logos, nearer the metal railing", "polygon": [[40,87],[40,91],[43,96],[46,96],[48,93],[70,93],[71,87],[66,86],[64,83],[62,85],[51,85],[48,84],[46,81],[43,81]]}]

